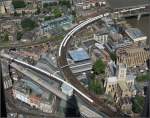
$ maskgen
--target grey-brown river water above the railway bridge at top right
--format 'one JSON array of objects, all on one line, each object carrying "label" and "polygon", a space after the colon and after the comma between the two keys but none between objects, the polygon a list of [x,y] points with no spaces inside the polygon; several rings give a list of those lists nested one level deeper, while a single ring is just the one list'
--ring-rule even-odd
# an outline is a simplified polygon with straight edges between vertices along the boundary
[{"label": "grey-brown river water above the railway bridge at top right", "polygon": [[150,0],[108,0],[108,2],[113,9],[150,5]]}]

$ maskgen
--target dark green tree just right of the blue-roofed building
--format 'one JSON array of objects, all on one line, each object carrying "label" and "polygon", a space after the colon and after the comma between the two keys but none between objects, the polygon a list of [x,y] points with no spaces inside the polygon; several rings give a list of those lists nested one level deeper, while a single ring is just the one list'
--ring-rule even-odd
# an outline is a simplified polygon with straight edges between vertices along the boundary
[{"label": "dark green tree just right of the blue-roofed building", "polygon": [[93,65],[93,71],[97,75],[104,74],[105,68],[106,68],[106,65],[104,64],[104,62],[101,59],[97,60]]}]

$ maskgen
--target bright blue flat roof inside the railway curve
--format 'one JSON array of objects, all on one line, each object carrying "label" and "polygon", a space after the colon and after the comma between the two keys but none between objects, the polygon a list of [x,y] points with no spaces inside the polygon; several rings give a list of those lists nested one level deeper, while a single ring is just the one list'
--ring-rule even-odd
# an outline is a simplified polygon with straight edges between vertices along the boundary
[{"label": "bright blue flat roof inside the railway curve", "polygon": [[83,61],[89,59],[89,55],[83,48],[77,50],[69,51],[69,55],[74,61]]}]

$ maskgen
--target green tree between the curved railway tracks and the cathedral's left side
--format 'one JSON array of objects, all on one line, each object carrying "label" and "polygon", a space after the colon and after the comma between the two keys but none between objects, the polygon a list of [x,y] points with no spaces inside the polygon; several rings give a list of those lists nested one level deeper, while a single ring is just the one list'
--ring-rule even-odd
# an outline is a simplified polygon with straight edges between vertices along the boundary
[{"label": "green tree between the curved railway tracks and the cathedral's left side", "polygon": [[95,94],[103,94],[104,93],[104,87],[102,82],[100,82],[97,79],[91,79],[89,83],[89,90],[94,92]]}]

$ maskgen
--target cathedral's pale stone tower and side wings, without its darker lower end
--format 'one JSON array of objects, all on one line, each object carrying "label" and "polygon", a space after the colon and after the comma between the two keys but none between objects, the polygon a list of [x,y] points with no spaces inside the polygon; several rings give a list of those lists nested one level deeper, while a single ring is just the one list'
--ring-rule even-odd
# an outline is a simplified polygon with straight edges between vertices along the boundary
[{"label": "cathedral's pale stone tower and side wings, without its darker lower end", "polygon": [[127,74],[127,65],[119,64],[116,68],[116,75],[110,76],[106,79],[105,87],[106,94],[115,95],[116,90],[120,89],[121,97],[130,96],[135,94],[134,79],[136,76]]}]

